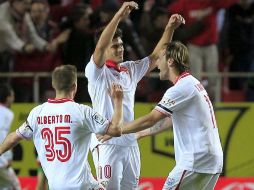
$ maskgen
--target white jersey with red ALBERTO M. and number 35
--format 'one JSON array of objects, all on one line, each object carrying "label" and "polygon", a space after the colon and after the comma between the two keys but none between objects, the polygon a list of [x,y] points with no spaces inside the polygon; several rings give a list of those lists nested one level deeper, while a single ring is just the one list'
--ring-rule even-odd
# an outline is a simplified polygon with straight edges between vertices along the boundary
[{"label": "white jersey with red ALBERTO M. and number 35", "polygon": [[88,190],[98,185],[87,161],[91,134],[105,134],[108,125],[88,106],[49,99],[35,107],[16,132],[33,139],[49,189]]}]

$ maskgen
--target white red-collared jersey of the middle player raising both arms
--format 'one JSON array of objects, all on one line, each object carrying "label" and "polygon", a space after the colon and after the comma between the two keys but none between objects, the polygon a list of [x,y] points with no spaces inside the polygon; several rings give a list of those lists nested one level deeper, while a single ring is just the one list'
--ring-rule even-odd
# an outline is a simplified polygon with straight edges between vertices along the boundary
[{"label": "white red-collared jersey of the middle player raising both arms", "polygon": [[[93,61],[93,56],[85,69],[85,75],[88,79],[88,92],[90,94],[93,109],[111,120],[114,109],[113,102],[108,93],[113,82],[123,87],[123,113],[124,122],[134,120],[134,100],[137,83],[143,78],[149,69],[150,60],[148,57],[139,61],[126,61],[120,63],[121,71],[107,67],[105,64],[98,68]],[[100,142],[95,135],[92,136],[91,149]],[[137,140],[134,134],[114,137],[104,144],[116,144],[121,146],[137,146]]]}]

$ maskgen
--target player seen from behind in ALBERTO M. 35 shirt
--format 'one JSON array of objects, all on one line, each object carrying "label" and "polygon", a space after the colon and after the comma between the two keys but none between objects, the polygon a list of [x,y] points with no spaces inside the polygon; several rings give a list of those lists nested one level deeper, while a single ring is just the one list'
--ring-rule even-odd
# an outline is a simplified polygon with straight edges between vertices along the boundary
[{"label": "player seen from behind in ALBERTO M. 35 shirt", "polygon": [[56,98],[35,107],[27,121],[10,133],[0,145],[0,154],[22,139],[33,139],[49,189],[102,190],[87,161],[92,133],[121,135],[122,88],[113,84],[109,92],[114,104],[112,121],[90,107],[77,104],[77,69],[56,67],[52,74]]}]

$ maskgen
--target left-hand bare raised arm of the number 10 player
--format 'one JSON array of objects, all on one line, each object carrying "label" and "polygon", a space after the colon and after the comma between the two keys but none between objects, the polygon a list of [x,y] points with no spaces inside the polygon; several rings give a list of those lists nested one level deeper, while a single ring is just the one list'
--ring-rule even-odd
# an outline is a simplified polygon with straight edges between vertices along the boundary
[{"label": "left-hand bare raised arm of the number 10 player", "polygon": [[98,67],[102,67],[105,62],[106,48],[110,45],[119,22],[128,16],[133,9],[138,9],[138,4],[136,2],[124,2],[115,16],[103,30],[93,53],[94,62]]}]

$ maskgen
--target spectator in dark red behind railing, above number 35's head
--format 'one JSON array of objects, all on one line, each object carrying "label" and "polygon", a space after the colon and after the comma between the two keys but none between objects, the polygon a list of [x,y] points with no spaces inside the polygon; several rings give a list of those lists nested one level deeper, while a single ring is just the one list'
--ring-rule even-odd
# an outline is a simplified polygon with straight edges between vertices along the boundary
[{"label": "spectator in dark red behind railing, above number 35's head", "polygon": [[[44,0],[32,2],[30,15],[37,34],[45,41],[50,42],[51,52],[34,50],[30,54],[17,53],[14,71],[50,72],[56,66],[61,65],[60,52],[57,51],[57,48],[67,40],[70,31],[66,30],[54,38],[57,35],[57,25],[49,19],[49,7]],[[44,101],[47,99],[47,91],[51,90],[51,81],[48,78],[40,78],[39,82],[40,101]],[[33,80],[31,78],[15,78],[13,87],[17,94],[17,102],[33,101],[33,91],[31,90],[33,89]]]}]

